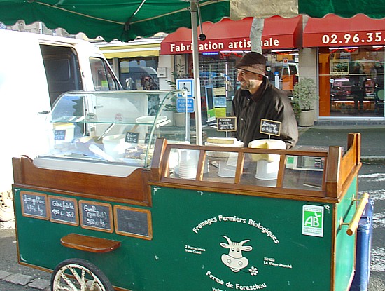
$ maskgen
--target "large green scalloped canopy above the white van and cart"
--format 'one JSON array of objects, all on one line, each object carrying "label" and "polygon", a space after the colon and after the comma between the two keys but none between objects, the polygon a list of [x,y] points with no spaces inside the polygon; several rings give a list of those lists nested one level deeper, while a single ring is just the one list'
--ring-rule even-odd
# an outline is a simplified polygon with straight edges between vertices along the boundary
[{"label": "large green scalloped canopy above the white van and cart", "polygon": [[[62,27],[69,34],[129,41],[157,32],[191,27],[189,1],[181,0],[0,0],[0,21],[14,25],[41,21],[49,29]],[[230,0],[200,1],[202,21],[217,22],[230,15]]]}]

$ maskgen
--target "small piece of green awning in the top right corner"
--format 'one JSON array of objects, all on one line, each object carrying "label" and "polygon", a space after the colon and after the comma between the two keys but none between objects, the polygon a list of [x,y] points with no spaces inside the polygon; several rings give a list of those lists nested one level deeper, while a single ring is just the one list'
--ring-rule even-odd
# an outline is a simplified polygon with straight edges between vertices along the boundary
[{"label": "small piece of green awning in the top right corner", "polygon": [[385,18],[385,1],[382,0],[298,0],[298,12],[314,18],[333,13],[344,18],[363,13],[370,18]]}]

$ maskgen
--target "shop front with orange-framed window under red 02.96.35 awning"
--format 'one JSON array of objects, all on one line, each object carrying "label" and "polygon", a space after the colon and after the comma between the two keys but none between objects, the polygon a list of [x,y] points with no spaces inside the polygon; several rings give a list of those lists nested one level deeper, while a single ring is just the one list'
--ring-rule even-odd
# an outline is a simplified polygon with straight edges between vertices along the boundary
[{"label": "shop front with orange-framed window under red 02.96.35 awning", "polygon": [[319,117],[384,119],[385,20],[309,18],[304,48],[318,50]]}]

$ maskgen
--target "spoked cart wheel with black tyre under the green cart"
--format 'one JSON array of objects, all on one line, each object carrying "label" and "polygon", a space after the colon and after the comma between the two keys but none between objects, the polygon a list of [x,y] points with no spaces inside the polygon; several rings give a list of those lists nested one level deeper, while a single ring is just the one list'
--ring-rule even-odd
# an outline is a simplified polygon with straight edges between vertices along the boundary
[{"label": "spoked cart wheel with black tyre under the green cart", "polygon": [[109,279],[85,259],[66,259],[51,276],[51,291],[113,291]]}]

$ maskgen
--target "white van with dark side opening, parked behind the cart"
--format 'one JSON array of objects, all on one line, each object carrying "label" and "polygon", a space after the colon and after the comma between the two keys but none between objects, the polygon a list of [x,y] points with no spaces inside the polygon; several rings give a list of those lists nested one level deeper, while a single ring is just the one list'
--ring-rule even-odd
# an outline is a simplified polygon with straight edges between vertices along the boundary
[{"label": "white van with dark side opening, parked behind the cart", "polygon": [[0,43],[0,220],[8,220],[12,157],[34,157],[47,147],[57,97],[122,87],[99,48],[87,41],[0,29]]}]

